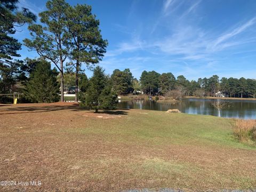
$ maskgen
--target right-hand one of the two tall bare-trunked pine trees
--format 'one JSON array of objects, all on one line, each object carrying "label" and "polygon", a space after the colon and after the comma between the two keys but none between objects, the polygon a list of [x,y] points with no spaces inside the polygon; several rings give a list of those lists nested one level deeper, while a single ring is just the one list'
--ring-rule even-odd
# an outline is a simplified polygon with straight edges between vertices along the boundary
[{"label": "right-hand one of the two tall bare-trunked pine trees", "polygon": [[89,5],[69,6],[66,9],[67,34],[71,36],[69,42],[71,59],[76,66],[75,101],[77,101],[78,76],[82,63],[91,68],[98,63],[106,52],[107,41],[101,37],[100,22],[91,13]]}]

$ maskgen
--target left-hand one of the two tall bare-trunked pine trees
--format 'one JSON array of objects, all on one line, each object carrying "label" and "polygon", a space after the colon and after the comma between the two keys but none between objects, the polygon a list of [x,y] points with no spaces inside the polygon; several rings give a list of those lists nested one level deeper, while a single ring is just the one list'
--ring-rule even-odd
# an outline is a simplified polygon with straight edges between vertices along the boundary
[{"label": "left-hand one of the two tall bare-trunked pine trees", "polygon": [[66,33],[65,10],[69,5],[64,0],[46,3],[46,11],[39,13],[43,25],[28,27],[32,39],[24,39],[30,50],[36,51],[44,59],[50,60],[60,71],[61,102],[64,101],[63,63],[68,57],[69,36]]}]

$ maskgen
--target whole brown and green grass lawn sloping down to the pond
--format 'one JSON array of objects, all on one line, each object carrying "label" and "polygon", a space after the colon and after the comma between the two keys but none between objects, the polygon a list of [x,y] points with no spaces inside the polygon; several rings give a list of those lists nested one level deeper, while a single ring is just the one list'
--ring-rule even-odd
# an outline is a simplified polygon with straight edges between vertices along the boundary
[{"label": "whole brown and green grass lawn sloping down to the pond", "polygon": [[0,191],[256,188],[256,150],[234,120],[76,104],[0,106]]}]

